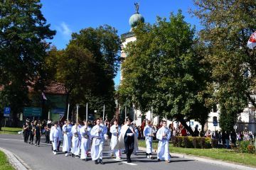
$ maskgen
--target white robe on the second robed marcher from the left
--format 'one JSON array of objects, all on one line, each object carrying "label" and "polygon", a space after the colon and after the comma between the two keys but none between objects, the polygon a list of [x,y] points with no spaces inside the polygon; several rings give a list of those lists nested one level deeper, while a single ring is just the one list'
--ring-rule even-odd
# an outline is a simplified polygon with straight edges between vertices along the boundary
[{"label": "white robe on the second robed marcher from the left", "polygon": [[72,125],[63,125],[63,152],[70,152],[71,148],[71,132]]}]

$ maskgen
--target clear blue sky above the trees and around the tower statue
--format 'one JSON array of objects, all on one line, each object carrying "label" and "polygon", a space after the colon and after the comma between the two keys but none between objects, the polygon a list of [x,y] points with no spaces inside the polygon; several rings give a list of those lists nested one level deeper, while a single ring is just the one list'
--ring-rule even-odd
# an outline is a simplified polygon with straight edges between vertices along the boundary
[{"label": "clear blue sky above the trees and around the tower statue", "polygon": [[[118,35],[127,33],[130,29],[129,17],[135,13],[134,3],[139,3],[139,13],[146,23],[155,23],[156,16],[169,17],[170,12],[183,11],[185,20],[200,29],[197,18],[188,13],[193,6],[192,0],[41,0],[42,12],[51,29],[57,33],[53,43],[58,49],[68,44],[71,33],[82,28],[97,28],[108,24],[118,30]],[[120,75],[114,79],[119,84]]]}]

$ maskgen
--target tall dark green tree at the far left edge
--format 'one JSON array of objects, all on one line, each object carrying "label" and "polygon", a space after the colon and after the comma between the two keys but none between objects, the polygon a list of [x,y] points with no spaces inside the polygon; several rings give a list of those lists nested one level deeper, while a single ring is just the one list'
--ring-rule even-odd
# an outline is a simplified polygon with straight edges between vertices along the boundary
[{"label": "tall dark green tree at the far left edge", "polygon": [[46,23],[39,0],[1,0],[0,30],[1,100],[11,106],[16,119],[29,104],[28,86],[40,77],[48,48],[45,40],[52,39],[55,31]]}]

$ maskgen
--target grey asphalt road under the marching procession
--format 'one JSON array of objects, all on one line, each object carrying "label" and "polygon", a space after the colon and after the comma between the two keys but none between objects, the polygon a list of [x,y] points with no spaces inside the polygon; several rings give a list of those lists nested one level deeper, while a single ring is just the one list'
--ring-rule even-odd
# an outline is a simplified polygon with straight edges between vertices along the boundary
[{"label": "grey asphalt road under the marching procession", "polygon": [[[41,142],[45,142],[44,137],[41,138]],[[8,149],[18,157],[31,169],[49,170],[49,169],[121,169],[121,170],[141,170],[141,169],[190,169],[190,170],[225,170],[233,169],[228,166],[220,166],[216,164],[210,164],[206,162],[199,162],[193,159],[183,159],[180,157],[171,157],[171,163],[157,162],[156,159],[151,160],[145,157],[145,152],[139,150],[137,155],[132,155],[132,163],[127,163],[124,159],[117,160],[112,159],[108,154],[109,146],[105,146],[103,154],[103,162],[105,165],[97,164],[91,160],[85,162],[81,159],[73,157],[65,157],[63,152],[58,152],[57,155],[53,155],[51,146],[41,143],[40,147],[35,145],[26,144],[23,142],[21,135],[0,135],[0,147]],[[61,148],[60,148],[61,149]],[[156,157],[156,154],[154,154]]]}]

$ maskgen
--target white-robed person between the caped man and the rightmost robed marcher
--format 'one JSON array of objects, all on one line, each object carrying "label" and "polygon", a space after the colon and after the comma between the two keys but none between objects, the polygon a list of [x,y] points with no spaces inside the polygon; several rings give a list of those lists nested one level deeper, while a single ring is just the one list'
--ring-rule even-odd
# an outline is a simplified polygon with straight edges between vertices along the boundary
[{"label": "white-robed person between the caped man and the rightmost robed marcher", "polygon": [[152,143],[153,143],[153,136],[154,136],[153,132],[154,130],[152,128],[151,121],[147,120],[147,125],[144,128],[143,133],[144,133],[145,142],[146,142],[146,157],[150,159],[154,159],[154,157],[152,157],[152,149],[153,149]]}]

